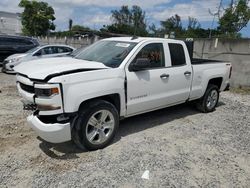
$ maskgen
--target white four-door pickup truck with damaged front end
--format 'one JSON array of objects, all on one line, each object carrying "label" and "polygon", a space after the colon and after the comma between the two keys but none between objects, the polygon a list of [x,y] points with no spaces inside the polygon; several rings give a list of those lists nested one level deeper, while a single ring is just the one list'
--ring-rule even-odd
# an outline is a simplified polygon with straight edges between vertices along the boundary
[{"label": "white four-door pickup truck with damaged front end", "polygon": [[15,68],[28,124],[48,142],[107,146],[119,120],[195,101],[215,109],[229,87],[231,64],[193,60],[183,41],[119,37],[100,40],[75,57],[35,60]]}]

